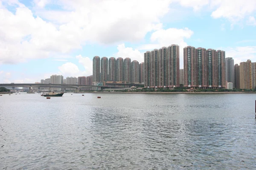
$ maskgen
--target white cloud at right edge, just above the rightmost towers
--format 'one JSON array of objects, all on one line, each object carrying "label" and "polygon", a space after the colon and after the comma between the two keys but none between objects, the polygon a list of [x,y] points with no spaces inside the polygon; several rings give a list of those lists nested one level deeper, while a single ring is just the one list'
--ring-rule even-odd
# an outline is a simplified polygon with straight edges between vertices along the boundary
[{"label": "white cloud at right edge, just above the rightmost towers", "polygon": [[246,62],[247,59],[251,59],[252,62],[256,62],[256,46],[230,47],[224,48],[224,51],[226,51],[226,57],[233,57],[234,64]]}]

